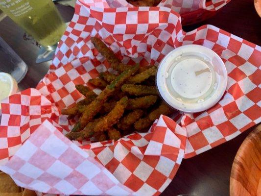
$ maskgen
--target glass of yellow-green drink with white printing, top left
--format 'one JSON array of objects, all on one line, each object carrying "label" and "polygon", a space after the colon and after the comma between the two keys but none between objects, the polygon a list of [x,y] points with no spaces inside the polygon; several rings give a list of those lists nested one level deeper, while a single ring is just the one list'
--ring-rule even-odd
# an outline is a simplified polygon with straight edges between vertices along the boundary
[{"label": "glass of yellow-green drink with white printing, top left", "polygon": [[0,0],[0,9],[46,49],[66,28],[52,0]]}]

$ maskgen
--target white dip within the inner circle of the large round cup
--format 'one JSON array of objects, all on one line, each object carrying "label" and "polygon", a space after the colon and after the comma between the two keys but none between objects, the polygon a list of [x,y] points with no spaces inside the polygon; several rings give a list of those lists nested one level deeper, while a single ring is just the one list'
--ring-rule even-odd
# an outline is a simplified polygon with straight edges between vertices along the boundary
[{"label": "white dip within the inner circle of the large round cup", "polygon": [[170,82],[183,98],[198,98],[210,89],[212,74],[207,64],[199,59],[184,59],[172,70]]}]

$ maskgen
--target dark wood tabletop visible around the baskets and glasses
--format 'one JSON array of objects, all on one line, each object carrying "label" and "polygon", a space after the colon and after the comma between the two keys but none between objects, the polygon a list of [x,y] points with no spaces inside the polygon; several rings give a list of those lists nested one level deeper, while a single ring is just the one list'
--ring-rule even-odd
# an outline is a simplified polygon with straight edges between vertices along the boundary
[{"label": "dark wood tabletop visible around the baskets and glasses", "polygon": [[[73,8],[57,5],[65,21],[71,20]],[[185,31],[211,24],[261,46],[261,18],[255,11],[254,0],[232,0],[214,17],[196,25],[185,26]],[[47,73],[51,61],[36,64],[39,47],[23,39],[24,30],[8,17],[0,22],[2,37],[28,65],[28,72],[19,84],[20,90],[35,87]],[[229,196],[229,178],[237,149],[253,129],[207,152],[184,159],[173,181],[162,196],[188,194],[191,196]]]}]

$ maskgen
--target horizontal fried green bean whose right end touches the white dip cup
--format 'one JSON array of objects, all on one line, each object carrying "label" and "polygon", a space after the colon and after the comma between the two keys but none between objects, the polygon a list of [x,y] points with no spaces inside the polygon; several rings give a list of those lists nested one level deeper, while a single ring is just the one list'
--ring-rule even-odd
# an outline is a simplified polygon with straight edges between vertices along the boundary
[{"label": "horizontal fried green bean whose right end touches the white dip cup", "polygon": [[123,92],[135,96],[145,96],[145,95],[158,95],[155,86],[143,86],[135,84],[123,84],[121,87]]}]

